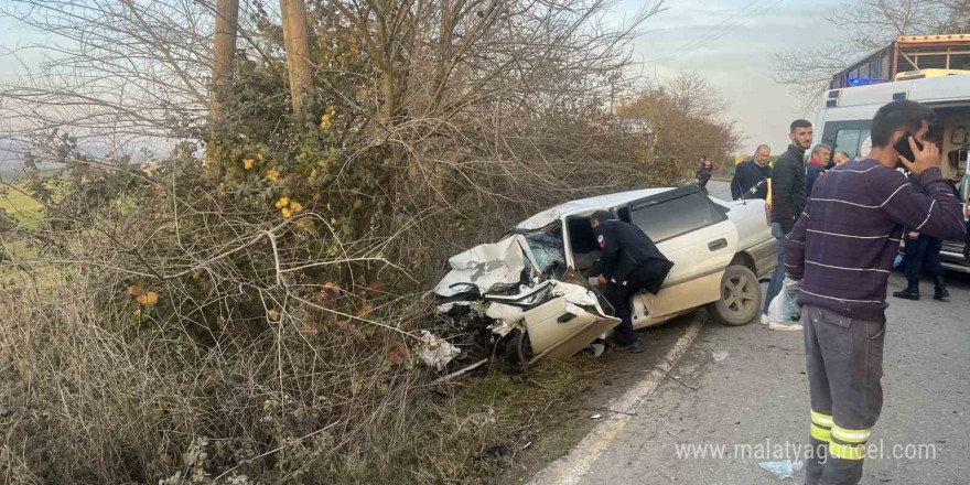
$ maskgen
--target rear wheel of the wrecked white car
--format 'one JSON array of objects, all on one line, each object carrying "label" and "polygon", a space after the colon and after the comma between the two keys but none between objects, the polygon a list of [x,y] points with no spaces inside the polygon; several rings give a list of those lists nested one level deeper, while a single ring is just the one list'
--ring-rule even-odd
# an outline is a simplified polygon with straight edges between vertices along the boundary
[{"label": "rear wheel of the wrecked white car", "polygon": [[709,304],[708,311],[722,325],[741,326],[757,317],[761,303],[757,277],[745,266],[732,265],[721,278],[721,299]]}]

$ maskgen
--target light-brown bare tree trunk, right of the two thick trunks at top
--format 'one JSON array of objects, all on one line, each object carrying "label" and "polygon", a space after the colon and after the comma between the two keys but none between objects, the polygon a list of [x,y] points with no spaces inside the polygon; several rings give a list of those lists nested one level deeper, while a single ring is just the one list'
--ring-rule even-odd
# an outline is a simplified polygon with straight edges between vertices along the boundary
[{"label": "light-brown bare tree trunk, right of the two thick trunks at top", "polygon": [[300,112],[311,93],[310,34],[303,0],[280,0],[283,17],[283,39],[287,45],[287,67],[290,71],[290,91],[293,112]]}]

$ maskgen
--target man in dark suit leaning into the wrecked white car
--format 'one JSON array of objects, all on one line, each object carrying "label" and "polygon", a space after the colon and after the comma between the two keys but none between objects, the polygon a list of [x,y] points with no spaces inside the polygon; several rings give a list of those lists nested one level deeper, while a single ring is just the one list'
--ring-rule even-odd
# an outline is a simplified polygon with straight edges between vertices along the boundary
[{"label": "man in dark suit leaning into the wrecked white car", "polygon": [[639,227],[612,220],[606,211],[596,211],[590,218],[596,242],[603,251],[600,284],[603,297],[613,305],[621,323],[614,330],[617,351],[639,353],[640,345],[633,330],[630,299],[642,290],[657,294],[670,273],[673,262],[657,249]]}]

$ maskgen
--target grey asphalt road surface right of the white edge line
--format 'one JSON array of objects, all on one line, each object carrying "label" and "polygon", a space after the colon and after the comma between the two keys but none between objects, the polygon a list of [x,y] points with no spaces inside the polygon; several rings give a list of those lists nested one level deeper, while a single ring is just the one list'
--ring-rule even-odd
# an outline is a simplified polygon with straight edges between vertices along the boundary
[{"label": "grey asphalt road surface right of the white edge line", "polygon": [[[712,195],[726,192],[726,184],[711,185]],[[890,291],[904,282],[894,274]],[[928,281],[923,291],[931,294]],[[864,484],[970,484],[970,278],[950,274],[950,292],[948,303],[890,299],[885,403],[871,441],[882,455],[866,460]],[[548,479],[550,467],[534,483],[778,483],[758,463],[797,460],[808,441],[802,335],[696,315],[667,330],[689,336],[682,353],[672,353],[667,378],[605,417],[613,423],[561,460],[569,462],[559,464],[561,478]],[[785,482],[802,483],[804,473]]]}]

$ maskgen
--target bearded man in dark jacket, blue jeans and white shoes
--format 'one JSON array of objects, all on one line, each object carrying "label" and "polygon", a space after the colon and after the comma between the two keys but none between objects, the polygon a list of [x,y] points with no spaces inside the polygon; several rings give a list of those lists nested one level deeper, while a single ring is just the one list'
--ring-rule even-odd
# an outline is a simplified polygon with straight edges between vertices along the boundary
[{"label": "bearded man in dark jacket, blue jeans and white shoes", "polygon": [[[811,122],[799,119],[791,122],[788,131],[791,144],[772,171],[772,236],[778,241],[778,267],[772,274],[762,324],[768,324],[768,306],[782,292],[785,282],[785,235],[795,226],[795,220],[805,211],[805,151],[811,147]],[[800,330],[793,326],[791,330]]]}]

